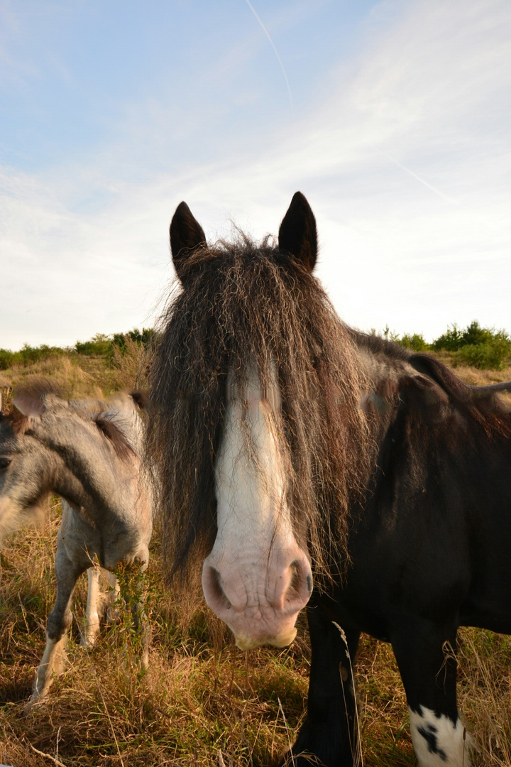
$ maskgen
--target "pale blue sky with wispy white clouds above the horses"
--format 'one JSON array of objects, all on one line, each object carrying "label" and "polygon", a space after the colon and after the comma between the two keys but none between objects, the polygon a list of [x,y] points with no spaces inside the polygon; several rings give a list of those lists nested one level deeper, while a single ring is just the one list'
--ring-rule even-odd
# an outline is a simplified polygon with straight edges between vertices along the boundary
[{"label": "pale blue sky with wispy white clouds above the horses", "polygon": [[0,0],[0,348],[151,327],[309,200],[362,330],[511,332],[509,0]]}]

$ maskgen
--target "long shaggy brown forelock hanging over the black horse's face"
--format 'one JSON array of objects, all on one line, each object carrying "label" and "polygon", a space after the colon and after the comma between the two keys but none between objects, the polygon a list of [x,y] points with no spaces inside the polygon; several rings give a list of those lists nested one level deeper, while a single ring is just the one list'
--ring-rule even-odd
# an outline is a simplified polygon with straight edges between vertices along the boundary
[{"label": "long shaggy brown forelock hanging over the black horse's face", "polygon": [[268,242],[257,247],[240,235],[194,252],[185,268],[151,363],[147,430],[169,573],[200,573],[215,540],[229,371],[241,396],[249,373],[263,393],[277,375],[274,433],[296,531],[306,535],[316,573],[346,564],[349,509],[365,489],[370,439],[345,326],[319,281]]}]

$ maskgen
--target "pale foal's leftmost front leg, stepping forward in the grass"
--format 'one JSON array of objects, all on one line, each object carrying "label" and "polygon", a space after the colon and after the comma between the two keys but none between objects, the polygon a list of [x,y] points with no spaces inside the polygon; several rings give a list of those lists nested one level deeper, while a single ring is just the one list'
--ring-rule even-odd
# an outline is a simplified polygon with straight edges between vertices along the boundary
[{"label": "pale foal's leftmost front leg, stepping forward in the grass", "polygon": [[73,615],[70,611],[71,596],[78,577],[84,568],[76,565],[67,556],[64,546],[57,546],[55,555],[55,573],[57,574],[57,598],[55,606],[48,615],[46,624],[46,647],[44,655],[35,673],[30,707],[47,694],[53,681],[53,674],[60,674],[66,662],[67,630]]}]

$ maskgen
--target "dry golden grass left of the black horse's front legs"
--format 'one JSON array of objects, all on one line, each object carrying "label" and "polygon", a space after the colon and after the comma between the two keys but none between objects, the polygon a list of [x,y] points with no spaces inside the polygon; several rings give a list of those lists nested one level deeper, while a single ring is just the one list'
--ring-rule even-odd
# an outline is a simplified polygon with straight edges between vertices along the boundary
[{"label": "dry golden grass left of the black horse's front legs", "polygon": [[[71,765],[211,765],[221,750],[233,764],[267,764],[287,742],[277,698],[291,728],[303,716],[308,670],[303,637],[290,652],[240,653],[201,608],[185,630],[179,605],[159,580],[153,542],[148,610],[150,667],[129,621],[105,627],[97,647],[79,646],[86,581],[75,597],[68,670],[48,703],[25,715],[44,625],[54,594],[53,550],[59,513],[40,531],[13,536],[0,571],[0,755],[6,763],[50,764],[31,746]],[[27,568],[27,561],[31,567]],[[187,606],[189,607],[189,606]],[[2,753],[3,749],[3,753]]]}]

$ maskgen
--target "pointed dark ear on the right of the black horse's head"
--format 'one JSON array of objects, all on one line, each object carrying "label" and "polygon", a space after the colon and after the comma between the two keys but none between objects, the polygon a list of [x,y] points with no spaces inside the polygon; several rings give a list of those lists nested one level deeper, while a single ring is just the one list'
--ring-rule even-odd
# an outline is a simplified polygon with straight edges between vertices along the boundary
[{"label": "pointed dark ear on the right of the black horse's head", "polygon": [[316,219],[301,192],[293,195],[289,209],[280,224],[279,248],[291,253],[309,272],[313,271],[318,255]]}]

